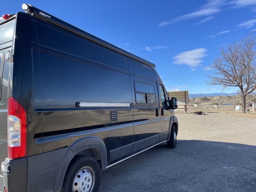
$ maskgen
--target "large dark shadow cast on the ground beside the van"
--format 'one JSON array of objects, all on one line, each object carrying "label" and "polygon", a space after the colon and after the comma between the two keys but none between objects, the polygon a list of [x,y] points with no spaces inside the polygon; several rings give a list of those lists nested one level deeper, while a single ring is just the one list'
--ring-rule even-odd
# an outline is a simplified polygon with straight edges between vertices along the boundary
[{"label": "large dark shadow cast on the ground beside the van", "polygon": [[256,146],[203,140],[160,144],[101,174],[107,191],[256,191]]}]

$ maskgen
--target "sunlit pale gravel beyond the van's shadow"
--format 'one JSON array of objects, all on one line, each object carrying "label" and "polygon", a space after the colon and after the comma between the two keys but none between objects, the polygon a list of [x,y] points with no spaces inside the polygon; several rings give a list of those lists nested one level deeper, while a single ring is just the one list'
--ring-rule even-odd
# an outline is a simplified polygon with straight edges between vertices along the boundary
[{"label": "sunlit pale gravel beyond the van's shadow", "polygon": [[[256,130],[256,120],[249,117],[236,116],[233,113],[205,112],[206,115],[175,114],[179,121],[179,140],[215,140],[232,134],[243,134]],[[255,114],[256,116],[256,114]],[[250,144],[240,138],[239,143]],[[256,140],[256,138],[255,138]],[[224,140],[228,141],[228,140]],[[246,143],[244,143],[246,142]],[[256,144],[254,142],[254,144]]]}]

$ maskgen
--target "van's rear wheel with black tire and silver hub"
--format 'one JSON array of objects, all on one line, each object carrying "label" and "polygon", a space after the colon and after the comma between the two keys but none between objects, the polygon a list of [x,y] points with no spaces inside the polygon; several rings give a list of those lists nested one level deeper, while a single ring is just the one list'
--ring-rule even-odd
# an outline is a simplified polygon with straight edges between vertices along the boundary
[{"label": "van's rear wheel with black tire and silver hub", "polygon": [[100,166],[91,156],[77,156],[68,166],[61,192],[97,192]]}]

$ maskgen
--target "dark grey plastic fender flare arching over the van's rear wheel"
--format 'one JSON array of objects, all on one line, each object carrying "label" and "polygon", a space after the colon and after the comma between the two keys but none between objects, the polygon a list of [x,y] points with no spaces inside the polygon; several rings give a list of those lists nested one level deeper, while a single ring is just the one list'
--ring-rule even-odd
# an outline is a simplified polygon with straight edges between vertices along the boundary
[{"label": "dark grey plastic fender flare arching over the van's rear wheel", "polygon": [[97,149],[100,153],[101,159],[101,171],[104,171],[107,167],[107,149],[105,143],[97,136],[83,137],[76,140],[69,147],[75,155],[86,149]]}]

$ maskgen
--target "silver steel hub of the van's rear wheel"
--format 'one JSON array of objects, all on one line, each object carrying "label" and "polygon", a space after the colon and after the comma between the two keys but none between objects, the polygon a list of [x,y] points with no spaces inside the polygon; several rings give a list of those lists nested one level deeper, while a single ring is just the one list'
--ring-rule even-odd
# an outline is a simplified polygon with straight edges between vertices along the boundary
[{"label": "silver steel hub of the van's rear wheel", "polygon": [[95,174],[91,167],[83,167],[76,173],[73,192],[91,192],[95,183]]}]

